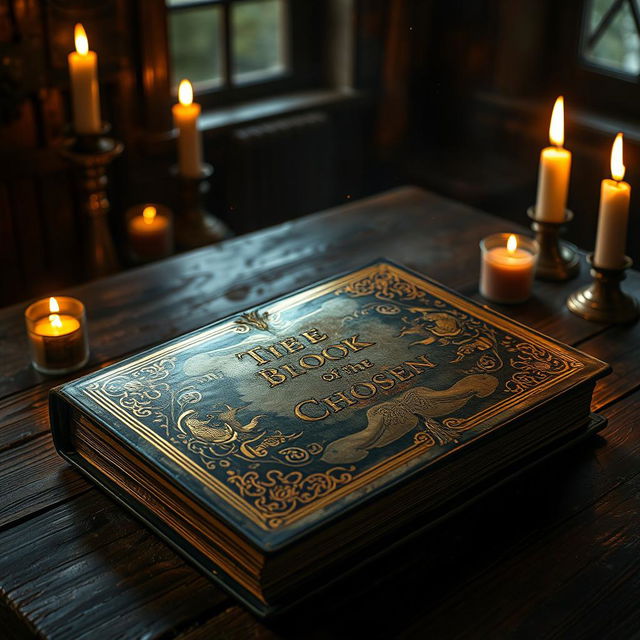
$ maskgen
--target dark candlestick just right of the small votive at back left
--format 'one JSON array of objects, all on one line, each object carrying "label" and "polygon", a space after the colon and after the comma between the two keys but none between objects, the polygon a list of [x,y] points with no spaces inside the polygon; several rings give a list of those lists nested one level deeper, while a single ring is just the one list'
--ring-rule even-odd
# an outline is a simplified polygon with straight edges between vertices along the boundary
[{"label": "dark candlestick just right of the small votive at back left", "polygon": [[183,176],[175,166],[171,168],[171,173],[178,181],[179,200],[175,218],[177,246],[180,249],[195,249],[229,237],[231,233],[228,227],[203,205],[213,167],[203,164],[202,173],[195,178]]}]

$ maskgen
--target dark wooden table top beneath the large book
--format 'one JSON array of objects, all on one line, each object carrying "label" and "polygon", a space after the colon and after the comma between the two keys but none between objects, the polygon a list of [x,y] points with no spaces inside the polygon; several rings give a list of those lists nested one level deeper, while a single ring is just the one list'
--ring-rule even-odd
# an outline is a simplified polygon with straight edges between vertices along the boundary
[{"label": "dark wooden table top beneath the large book", "polygon": [[[523,212],[523,221],[525,215]],[[574,221],[573,224],[579,224]],[[239,237],[71,290],[105,365],[386,256],[477,298],[478,241],[512,224],[416,188]],[[83,480],[51,442],[46,379],[22,314],[0,310],[0,637],[630,638],[640,632],[640,325],[590,324],[536,283],[513,318],[613,366],[601,434],[263,623]],[[640,293],[640,274],[625,287]]]}]

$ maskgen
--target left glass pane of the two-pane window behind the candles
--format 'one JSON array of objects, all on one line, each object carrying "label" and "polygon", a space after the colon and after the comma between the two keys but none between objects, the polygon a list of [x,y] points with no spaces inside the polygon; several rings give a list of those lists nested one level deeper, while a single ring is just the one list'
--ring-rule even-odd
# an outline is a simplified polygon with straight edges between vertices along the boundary
[{"label": "left glass pane of the two-pane window behind the candles", "polygon": [[[171,0],[176,4],[180,0]],[[220,7],[203,5],[169,11],[169,45],[173,84],[222,84]]]}]

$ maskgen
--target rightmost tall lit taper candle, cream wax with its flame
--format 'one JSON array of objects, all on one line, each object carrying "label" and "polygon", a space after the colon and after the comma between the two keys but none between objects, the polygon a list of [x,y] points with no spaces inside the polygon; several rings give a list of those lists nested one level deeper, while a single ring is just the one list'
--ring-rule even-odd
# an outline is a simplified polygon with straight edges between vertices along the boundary
[{"label": "rightmost tall lit taper candle, cream wax with its flame", "polygon": [[602,269],[620,269],[624,264],[627,245],[627,220],[631,187],[623,182],[626,167],[622,159],[622,134],[619,133],[611,149],[611,176],[600,188],[598,234],[593,263]]}]

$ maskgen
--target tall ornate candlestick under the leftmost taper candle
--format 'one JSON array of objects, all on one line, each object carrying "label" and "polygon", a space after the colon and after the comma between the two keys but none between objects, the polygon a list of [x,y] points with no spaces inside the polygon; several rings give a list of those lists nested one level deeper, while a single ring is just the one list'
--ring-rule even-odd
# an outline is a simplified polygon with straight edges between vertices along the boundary
[{"label": "tall ornate candlestick under the leftmost taper candle", "polygon": [[106,135],[109,126],[96,135],[67,138],[61,155],[76,168],[84,220],[84,268],[91,279],[118,270],[118,258],[109,230],[107,168],[124,150],[119,140]]}]

